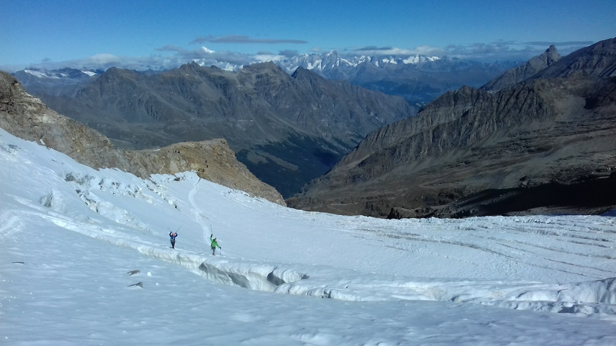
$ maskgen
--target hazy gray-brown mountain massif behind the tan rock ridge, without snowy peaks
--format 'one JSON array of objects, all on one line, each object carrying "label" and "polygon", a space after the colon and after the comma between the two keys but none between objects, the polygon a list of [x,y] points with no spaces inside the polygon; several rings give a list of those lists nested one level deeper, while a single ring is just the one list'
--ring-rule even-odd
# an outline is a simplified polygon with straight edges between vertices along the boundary
[{"label": "hazy gray-brown mountain massif behind the tan rock ridge, without snowy peaks", "polygon": [[400,97],[274,63],[237,72],[197,63],[162,73],[110,68],[52,109],[125,148],[224,138],[283,196],[327,172],[368,132],[415,115]]}]

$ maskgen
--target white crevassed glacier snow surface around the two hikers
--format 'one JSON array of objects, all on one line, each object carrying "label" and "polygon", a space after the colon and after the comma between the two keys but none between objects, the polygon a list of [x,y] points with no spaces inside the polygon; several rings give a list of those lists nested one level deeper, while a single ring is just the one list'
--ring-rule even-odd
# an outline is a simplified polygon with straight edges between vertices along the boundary
[{"label": "white crevassed glacier snow surface around the two hikers", "polygon": [[0,220],[0,344],[616,344],[614,214],[304,212],[0,129]]}]

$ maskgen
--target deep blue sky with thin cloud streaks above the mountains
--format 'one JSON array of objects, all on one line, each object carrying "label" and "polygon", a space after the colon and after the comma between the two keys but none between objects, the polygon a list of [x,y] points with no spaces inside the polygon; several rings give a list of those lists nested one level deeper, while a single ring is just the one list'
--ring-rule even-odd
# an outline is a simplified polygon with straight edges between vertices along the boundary
[{"label": "deep blue sky with thin cloud streaks above the mountains", "polygon": [[608,1],[0,0],[0,68],[177,65],[216,52],[527,59],[616,36]]}]

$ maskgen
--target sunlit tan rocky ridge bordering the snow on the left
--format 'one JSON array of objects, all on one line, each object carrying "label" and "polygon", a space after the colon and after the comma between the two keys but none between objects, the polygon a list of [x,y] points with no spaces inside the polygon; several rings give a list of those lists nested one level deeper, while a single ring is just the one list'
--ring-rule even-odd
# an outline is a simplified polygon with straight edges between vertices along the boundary
[{"label": "sunlit tan rocky ridge bordering the snow on the left", "polygon": [[150,150],[121,150],[99,132],[56,113],[0,71],[0,127],[22,139],[66,153],[94,168],[117,167],[142,178],[196,171],[207,180],[285,205],[282,195],[258,180],[223,139],[176,143]]}]

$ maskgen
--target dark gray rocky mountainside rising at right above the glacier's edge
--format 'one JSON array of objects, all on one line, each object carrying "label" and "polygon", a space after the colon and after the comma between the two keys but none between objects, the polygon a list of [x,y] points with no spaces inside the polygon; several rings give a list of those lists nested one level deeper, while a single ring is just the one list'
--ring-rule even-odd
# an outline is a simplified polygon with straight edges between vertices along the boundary
[{"label": "dark gray rocky mountainside rising at right above the glacier's edge", "polygon": [[[417,116],[369,134],[287,204],[378,217],[613,209],[616,79],[599,78],[616,66],[616,55],[606,53],[616,51],[615,41],[608,41],[535,74],[548,76],[541,73],[566,59],[557,70],[566,78],[442,95]],[[579,71],[589,66],[579,62],[596,62],[601,72]]]}]

